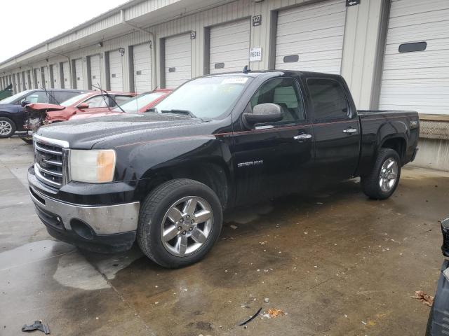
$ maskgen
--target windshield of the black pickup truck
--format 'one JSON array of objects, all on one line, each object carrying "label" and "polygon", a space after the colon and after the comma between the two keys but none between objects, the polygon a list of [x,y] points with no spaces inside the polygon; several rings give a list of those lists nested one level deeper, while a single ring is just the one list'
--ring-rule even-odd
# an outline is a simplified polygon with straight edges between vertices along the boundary
[{"label": "windshield of the black pickup truck", "polygon": [[232,109],[246,83],[246,76],[213,76],[191,80],[156,105],[162,111],[189,111],[196,118],[218,118]]}]

